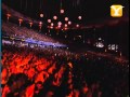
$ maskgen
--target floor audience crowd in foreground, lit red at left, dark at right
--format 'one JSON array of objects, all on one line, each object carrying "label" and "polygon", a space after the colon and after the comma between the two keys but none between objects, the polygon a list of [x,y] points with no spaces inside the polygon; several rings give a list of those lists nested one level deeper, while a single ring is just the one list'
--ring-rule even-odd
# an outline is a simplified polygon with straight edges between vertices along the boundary
[{"label": "floor audience crowd in foreground, lit red at left, dark at right", "polygon": [[129,97],[129,63],[14,45],[2,50],[2,97]]}]

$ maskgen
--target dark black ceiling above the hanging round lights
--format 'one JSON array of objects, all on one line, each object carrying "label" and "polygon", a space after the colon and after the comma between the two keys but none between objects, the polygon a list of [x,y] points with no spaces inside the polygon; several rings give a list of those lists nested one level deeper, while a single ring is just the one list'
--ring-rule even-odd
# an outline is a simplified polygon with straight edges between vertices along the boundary
[{"label": "dark black ceiling above the hanging round lights", "polygon": [[[83,25],[110,18],[112,4],[123,5],[123,16],[129,15],[129,0],[2,0],[2,2],[35,19],[41,19],[39,14],[43,13],[43,19],[57,15],[60,19],[68,16],[72,22],[78,23],[77,18],[81,15],[80,23]],[[65,10],[63,15],[60,15],[61,6]]]}]

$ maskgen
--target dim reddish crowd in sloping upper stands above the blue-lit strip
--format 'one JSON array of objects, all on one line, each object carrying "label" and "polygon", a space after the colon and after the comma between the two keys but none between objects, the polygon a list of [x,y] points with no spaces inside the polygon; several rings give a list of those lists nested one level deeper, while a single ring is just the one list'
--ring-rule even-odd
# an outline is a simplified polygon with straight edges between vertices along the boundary
[{"label": "dim reddish crowd in sloping upper stands above the blue-lit strip", "polygon": [[2,22],[2,31],[4,31],[5,34],[9,34],[9,36],[17,36],[17,37],[22,37],[22,38],[26,38],[26,39],[32,38],[35,40],[52,42],[52,43],[57,42],[56,40],[54,40],[46,34],[42,34],[34,29],[28,29],[26,27],[20,27],[18,25],[12,24],[10,22],[5,23],[4,20]]}]

